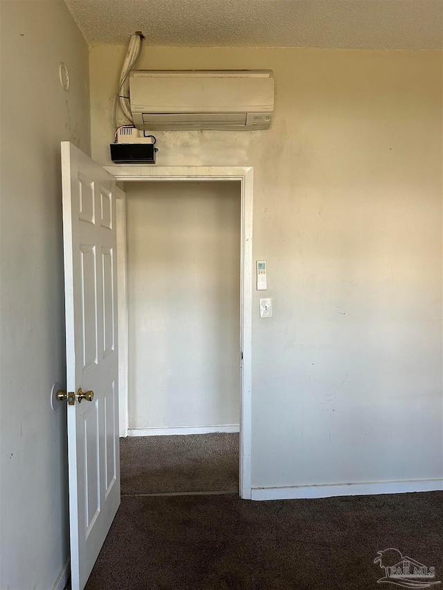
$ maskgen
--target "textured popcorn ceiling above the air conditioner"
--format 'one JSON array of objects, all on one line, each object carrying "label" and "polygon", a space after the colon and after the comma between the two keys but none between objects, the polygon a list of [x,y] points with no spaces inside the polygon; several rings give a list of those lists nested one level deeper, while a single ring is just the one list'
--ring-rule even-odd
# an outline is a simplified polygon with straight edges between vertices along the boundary
[{"label": "textured popcorn ceiling above the air conditioner", "polygon": [[89,44],[442,48],[443,0],[65,0]]}]

